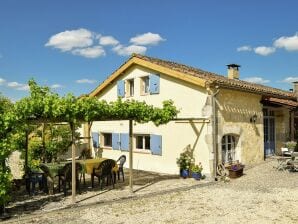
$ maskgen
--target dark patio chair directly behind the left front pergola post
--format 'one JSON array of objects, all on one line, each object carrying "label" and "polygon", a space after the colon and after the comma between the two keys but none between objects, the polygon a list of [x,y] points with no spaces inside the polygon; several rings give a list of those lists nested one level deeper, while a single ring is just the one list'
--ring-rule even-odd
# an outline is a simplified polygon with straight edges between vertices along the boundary
[{"label": "dark patio chair directly behind the left front pergola post", "polygon": [[[76,163],[76,188],[79,193],[81,193],[80,188],[80,178],[79,173],[82,171],[82,165],[80,163]],[[63,186],[64,196],[66,196],[67,190],[66,185],[68,184],[68,188],[70,188],[70,183],[72,180],[72,163],[67,163],[65,166],[58,172],[58,191],[60,192],[61,185]]]}]

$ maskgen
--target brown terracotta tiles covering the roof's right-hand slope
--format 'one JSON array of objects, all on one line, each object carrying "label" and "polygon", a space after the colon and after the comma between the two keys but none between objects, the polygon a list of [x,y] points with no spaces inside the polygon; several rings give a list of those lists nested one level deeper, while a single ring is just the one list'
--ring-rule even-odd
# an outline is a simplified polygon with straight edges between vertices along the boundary
[{"label": "brown terracotta tiles covering the roof's right-hand slope", "polygon": [[246,82],[238,79],[228,79],[225,76],[218,75],[212,72],[207,72],[201,69],[197,69],[191,66],[187,66],[184,64],[179,64],[172,61],[161,60],[158,58],[148,57],[140,54],[133,54],[132,57],[137,57],[145,61],[149,61],[151,63],[164,66],[166,68],[183,72],[188,75],[196,76],[201,79],[206,80],[211,85],[219,85],[221,87],[229,88],[229,89],[237,89],[246,92],[258,93],[262,95],[270,95],[279,98],[290,98],[296,100],[296,96],[293,92],[284,91],[281,89],[276,89],[269,86],[264,86],[260,84],[255,84],[251,82]]}]

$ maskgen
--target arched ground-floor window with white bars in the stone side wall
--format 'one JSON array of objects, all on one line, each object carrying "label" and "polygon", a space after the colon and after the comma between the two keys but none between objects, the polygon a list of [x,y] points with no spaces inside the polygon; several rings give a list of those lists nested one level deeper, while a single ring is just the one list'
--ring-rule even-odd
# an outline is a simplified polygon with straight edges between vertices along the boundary
[{"label": "arched ground-floor window with white bars in the stone side wall", "polygon": [[224,135],[221,141],[222,162],[229,163],[235,161],[236,137],[233,135]]}]

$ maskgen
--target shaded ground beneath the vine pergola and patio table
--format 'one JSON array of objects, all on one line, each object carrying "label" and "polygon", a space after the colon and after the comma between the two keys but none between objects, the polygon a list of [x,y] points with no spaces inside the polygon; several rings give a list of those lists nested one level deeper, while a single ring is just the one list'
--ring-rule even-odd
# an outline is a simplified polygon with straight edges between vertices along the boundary
[{"label": "shaded ground beneath the vine pergola and patio table", "polygon": [[[149,186],[152,186],[160,181],[163,180],[170,180],[170,179],[179,179],[178,175],[167,175],[167,174],[160,174],[154,172],[147,172],[147,171],[140,171],[140,170],[133,170],[133,184],[135,187],[134,192],[141,191]],[[57,181],[56,181],[57,182]],[[83,181],[82,181],[83,182]],[[125,180],[122,181],[122,176],[120,180],[116,180],[115,189],[117,190],[124,190],[129,186],[129,170],[125,169]],[[86,176],[86,183],[80,184],[81,188],[81,195],[80,200],[77,202],[86,201],[90,198],[97,197],[99,195],[104,195],[109,191],[112,191],[112,186],[104,185],[103,190],[100,189],[98,179],[95,179],[94,188],[91,188],[91,179],[90,176]],[[88,194],[89,192],[93,192],[93,194]],[[96,193],[97,192],[97,193]],[[95,194],[94,194],[95,193]],[[86,197],[83,195],[86,194]],[[67,191],[67,196],[71,195],[71,189]],[[25,186],[21,186],[19,190],[14,190],[12,192],[12,200],[6,206],[6,211],[9,213],[10,216],[16,217],[25,214],[32,214],[38,211],[41,211],[47,204],[57,202],[63,203],[66,200],[64,197],[63,192],[58,192],[58,189],[55,185],[55,192],[54,195],[46,194],[42,191],[37,191],[35,195],[29,195],[26,190]]]}]

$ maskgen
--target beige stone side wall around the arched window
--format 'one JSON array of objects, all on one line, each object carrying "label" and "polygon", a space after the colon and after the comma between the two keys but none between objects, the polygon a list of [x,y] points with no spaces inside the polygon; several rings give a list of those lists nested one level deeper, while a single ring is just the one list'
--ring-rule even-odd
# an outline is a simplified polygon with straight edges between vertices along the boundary
[{"label": "beige stone side wall around the arched window", "polygon": [[[226,134],[238,136],[236,159],[252,164],[264,159],[263,112],[261,96],[235,90],[221,89],[218,94],[218,143],[221,158],[221,140]],[[250,118],[256,114],[256,123]]]}]

